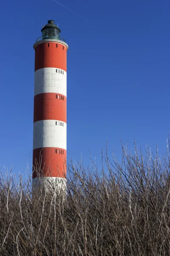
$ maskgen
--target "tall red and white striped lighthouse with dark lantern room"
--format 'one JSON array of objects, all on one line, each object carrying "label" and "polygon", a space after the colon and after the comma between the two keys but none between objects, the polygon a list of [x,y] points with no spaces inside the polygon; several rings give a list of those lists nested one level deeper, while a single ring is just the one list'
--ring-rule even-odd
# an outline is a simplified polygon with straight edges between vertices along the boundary
[{"label": "tall red and white striped lighthouse with dark lantern room", "polygon": [[54,20],[34,44],[33,186],[66,183],[67,49]]}]

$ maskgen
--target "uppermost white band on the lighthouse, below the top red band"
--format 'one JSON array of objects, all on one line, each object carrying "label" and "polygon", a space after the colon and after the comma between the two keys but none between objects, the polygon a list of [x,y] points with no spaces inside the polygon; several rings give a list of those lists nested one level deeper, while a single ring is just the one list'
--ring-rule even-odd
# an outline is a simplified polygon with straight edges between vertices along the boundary
[{"label": "uppermost white band on the lighthouse, below the top red band", "polygon": [[67,96],[67,73],[55,67],[36,70],[34,74],[34,96],[40,93],[59,93]]}]

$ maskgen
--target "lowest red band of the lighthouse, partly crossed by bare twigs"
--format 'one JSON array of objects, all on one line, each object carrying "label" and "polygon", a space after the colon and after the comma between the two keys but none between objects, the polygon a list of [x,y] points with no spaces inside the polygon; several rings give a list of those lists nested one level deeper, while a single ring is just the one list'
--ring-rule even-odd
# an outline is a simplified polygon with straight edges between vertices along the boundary
[{"label": "lowest red band of the lighthouse, partly crossed by bare twigs", "polygon": [[[64,151],[64,154],[58,154],[58,152],[56,154],[56,149],[59,149],[59,151]],[[66,150],[62,148],[36,148],[33,150],[33,166],[33,179],[37,176],[39,177],[37,174],[38,166],[43,169],[43,174],[41,174],[40,177],[45,176],[65,178]]]}]

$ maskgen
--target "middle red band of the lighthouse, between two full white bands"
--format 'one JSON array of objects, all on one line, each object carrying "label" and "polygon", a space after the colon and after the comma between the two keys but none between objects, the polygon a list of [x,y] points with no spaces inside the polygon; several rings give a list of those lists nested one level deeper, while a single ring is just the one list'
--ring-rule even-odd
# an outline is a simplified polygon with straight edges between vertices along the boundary
[{"label": "middle red band of the lighthouse, between two full white bands", "polygon": [[60,120],[66,122],[66,97],[57,99],[57,93],[40,93],[34,96],[34,122],[40,120]]}]

